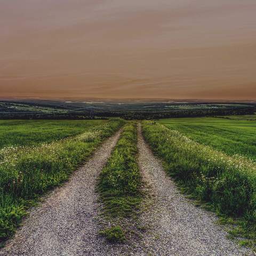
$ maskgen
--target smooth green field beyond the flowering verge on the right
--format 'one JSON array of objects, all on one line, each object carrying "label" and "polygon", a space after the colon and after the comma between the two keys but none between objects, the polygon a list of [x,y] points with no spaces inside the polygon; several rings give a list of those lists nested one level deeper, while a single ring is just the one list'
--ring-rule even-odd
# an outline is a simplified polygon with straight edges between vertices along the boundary
[{"label": "smooth green field beyond the flowering verge on the right", "polygon": [[214,117],[169,118],[159,123],[228,155],[241,154],[256,160],[256,122],[243,120],[242,117],[239,116],[240,120]]}]

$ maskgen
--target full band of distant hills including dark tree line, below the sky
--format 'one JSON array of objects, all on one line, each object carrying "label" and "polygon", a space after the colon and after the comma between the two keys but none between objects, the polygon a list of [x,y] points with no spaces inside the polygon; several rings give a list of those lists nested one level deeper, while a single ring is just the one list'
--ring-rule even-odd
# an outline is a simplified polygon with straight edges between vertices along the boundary
[{"label": "full band of distant hills including dark tree line, below the sky", "polygon": [[[93,110],[93,111],[92,111]],[[122,117],[155,119],[219,115],[251,115],[256,102],[199,102],[173,100],[0,100],[0,119],[89,119]]]}]

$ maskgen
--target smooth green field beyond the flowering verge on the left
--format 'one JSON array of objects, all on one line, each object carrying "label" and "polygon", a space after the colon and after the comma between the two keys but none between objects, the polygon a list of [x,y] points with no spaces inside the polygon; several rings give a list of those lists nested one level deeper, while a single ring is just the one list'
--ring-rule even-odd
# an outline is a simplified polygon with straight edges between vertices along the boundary
[{"label": "smooth green field beyond the flowering verge on the left", "polygon": [[102,120],[0,120],[0,148],[52,142],[84,132]]}]

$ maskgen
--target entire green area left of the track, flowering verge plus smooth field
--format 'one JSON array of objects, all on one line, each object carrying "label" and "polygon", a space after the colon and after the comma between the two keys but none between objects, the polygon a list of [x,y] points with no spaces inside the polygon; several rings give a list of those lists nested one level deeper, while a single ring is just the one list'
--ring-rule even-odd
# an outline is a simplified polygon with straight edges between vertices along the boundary
[{"label": "entire green area left of the track, flowering verge plus smooth field", "polygon": [[[0,132],[2,138],[9,138],[8,145],[17,145],[18,140],[6,131],[7,124],[12,122],[4,123],[5,134]],[[27,140],[29,146],[0,149],[0,245],[14,233],[28,207],[39,196],[66,181],[79,164],[92,154],[95,147],[116,132],[123,123],[121,119],[82,122],[13,121],[12,134],[19,138],[23,133],[20,141],[25,143]],[[30,137],[30,134],[33,136]],[[73,137],[61,140],[69,135]]]}]

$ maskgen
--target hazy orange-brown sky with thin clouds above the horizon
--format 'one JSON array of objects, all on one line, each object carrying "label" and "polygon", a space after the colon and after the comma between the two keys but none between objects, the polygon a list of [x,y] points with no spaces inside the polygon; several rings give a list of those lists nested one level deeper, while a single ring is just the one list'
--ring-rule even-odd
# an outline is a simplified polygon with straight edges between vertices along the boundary
[{"label": "hazy orange-brown sky with thin clouds above the horizon", "polygon": [[0,0],[0,98],[256,99],[255,0]]}]

